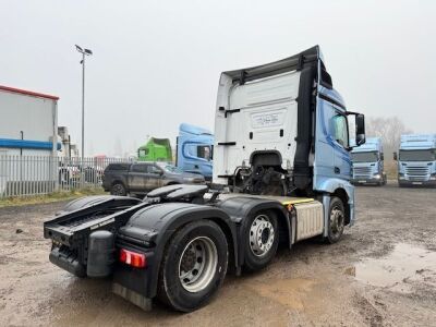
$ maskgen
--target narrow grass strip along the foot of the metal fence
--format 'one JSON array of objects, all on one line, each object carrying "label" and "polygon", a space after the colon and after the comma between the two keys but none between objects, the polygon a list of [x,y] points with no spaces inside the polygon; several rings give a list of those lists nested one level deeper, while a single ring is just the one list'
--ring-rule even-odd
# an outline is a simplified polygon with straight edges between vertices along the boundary
[{"label": "narrow grass strip along the foot of the metal fence", "polygon": [[83,189],[83,190],[71,190],[71,191],[59,191],[46,195],[33,195],[33,196],[13,196],[0,199],[0,208],[9,206],[24,206],[32,204],[51,203],[58,201],[72,199],[86,195],[102,195],[107,194],[102,189]]}]

